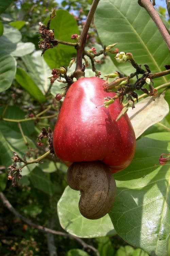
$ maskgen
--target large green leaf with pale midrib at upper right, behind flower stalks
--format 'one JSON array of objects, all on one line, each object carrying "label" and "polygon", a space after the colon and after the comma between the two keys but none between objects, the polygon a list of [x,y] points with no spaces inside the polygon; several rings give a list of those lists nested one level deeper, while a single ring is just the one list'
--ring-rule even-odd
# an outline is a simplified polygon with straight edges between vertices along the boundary
[{"label": "large green leaf with pale midrib at upper right, behind flower stalks", "polygon": [[[120,52],[131,52],[135,61],[149,65],[152,73],[165,70],[169,58],[167,45],[149,14],[136,0],[101,0],[95,14],[95,25],[103,45],[118,42],[116,47]],[[111,58],[122,73],[129,75],[135,71],[129,62],[118,63],[113,55]],[[159,77],[154,85],[168,80],[169,76]]]}]

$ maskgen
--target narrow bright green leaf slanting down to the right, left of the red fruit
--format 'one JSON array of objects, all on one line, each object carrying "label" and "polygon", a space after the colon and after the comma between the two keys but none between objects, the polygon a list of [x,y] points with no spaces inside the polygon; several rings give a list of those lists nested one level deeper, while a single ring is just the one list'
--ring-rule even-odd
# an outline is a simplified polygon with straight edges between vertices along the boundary
[{"label": "narrow bright green leaf slanting down to the right, left of the red fruit", "polygon": [[41,93],[38,86],[34,83],[31,77],[21,68],[17,68],[16,73],[17,82],[28,91],[28,93],[37,101],[43,103],[46,101],[46,97]]}]

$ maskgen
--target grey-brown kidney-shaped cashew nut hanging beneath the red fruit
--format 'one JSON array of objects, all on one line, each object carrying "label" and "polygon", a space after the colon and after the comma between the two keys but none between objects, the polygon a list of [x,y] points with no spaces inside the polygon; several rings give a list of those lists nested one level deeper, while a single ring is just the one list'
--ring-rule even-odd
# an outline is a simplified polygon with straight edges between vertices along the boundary
[{"label": "grey-brown kidney-shaped cashew nut hanging beneath the red fruit", "polygon": [[116,182],[101,161],[74,162],[67,171],[68,185],[80,190],[80,213],[88,219],[99,219],[112,208]]}]

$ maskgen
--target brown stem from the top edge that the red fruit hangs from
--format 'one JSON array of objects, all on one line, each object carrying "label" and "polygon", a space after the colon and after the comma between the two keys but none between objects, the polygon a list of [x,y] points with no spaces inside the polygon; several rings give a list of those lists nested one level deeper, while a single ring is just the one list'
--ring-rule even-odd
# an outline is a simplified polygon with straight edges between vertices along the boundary
[{"label": "brown stem from the top edge that the red fruit hangs from", "polygon": [[85,47],[85,43],[86,43],[86,37],[87,37],[87,33],[92,21],[92,18],[95,14],[97,5],[99,3],[100,0],[93,0],[90,11],[88,13],[87,19],[86,19],[86,23],[83,27],[83,30],[81,32],[79,41],[78,41],[78,46],[76,47],[77,49],[77,58],[76,58],[76,67],[75,67],[75,71],[74,71],[74,76],[78,79],[80,79],[81,77],[84,77],[84,72],[82,71],[82,56],[84,53],[84,47]]}]

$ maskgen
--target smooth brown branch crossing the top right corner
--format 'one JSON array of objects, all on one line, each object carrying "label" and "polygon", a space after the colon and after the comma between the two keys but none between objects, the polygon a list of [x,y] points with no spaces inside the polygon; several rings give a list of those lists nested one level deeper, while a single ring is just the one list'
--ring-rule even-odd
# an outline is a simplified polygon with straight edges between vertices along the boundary
[{"label": "smooth brown branch crossing the top right corner", "polygon": [[156,12],[151,0],[138,0],[138,4],[145,8],[148,14],[153,19],[154,23],[156,24],[159,32],[162,34],[164,41],[166,42],[169,50],[170,50],[170,35],[168,30],[166,29],[164,23],[162,22],[161,18],[159,17],[158,13]]}]

